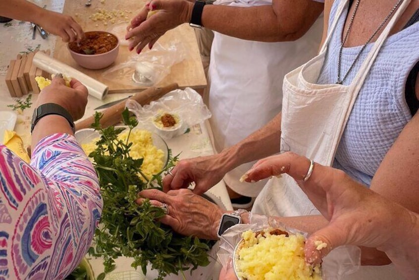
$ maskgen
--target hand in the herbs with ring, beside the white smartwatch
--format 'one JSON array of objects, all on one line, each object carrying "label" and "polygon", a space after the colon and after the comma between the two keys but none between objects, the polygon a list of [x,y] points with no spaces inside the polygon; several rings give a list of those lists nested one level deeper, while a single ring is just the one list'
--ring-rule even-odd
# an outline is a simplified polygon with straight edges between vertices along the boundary
[{"label": "hand in the herbs with ring, beside the white smartwatch", "polygon": [[143,202],[143,198],[149,198],[150,203],[158,207],[166,203],[168,215],[163,216],[160,222],[171,226],[174,231],[187,236],[217,239],[216,231],[222,211],[191,190],[171,190],[166,194],[148,189],[141,191],[139,196],[142,198],[137,200],[138,204]]}]

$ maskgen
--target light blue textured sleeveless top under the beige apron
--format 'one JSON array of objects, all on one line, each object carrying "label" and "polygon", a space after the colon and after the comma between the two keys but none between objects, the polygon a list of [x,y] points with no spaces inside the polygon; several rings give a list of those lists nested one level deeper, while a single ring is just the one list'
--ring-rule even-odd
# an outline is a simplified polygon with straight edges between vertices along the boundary
[{"label": "light blue textured sleeveless top under the beige apron", "polygon": [[[341,0],[335,0],[329,28]],[[337,81],[337,61],[348,8],[332,35],[318,84]],[[330,32],[330,30],[329,30]],[[370,43],[349,73],[345,85],[354,79],[373,43]],[[339,143],[333,167],[370,185],[381,161],[412,118],[405,99],[405,85],[419,61],[419,22],[390,36],[372,65]],[[362,46],[343,48],[341,77],[346,74]]]}]

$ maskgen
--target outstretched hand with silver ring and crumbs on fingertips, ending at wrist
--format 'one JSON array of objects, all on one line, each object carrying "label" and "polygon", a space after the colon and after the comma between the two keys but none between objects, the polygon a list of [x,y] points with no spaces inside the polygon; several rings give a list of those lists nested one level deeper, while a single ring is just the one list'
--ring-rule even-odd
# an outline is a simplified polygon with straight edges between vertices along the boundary
[{"label": "outstretched hand with silver ring and crumbs on fingertips, ending at wrist", "polygon": [[[406,209],[352,180],[343,171],[331,167],[315,164],[310,179],[304,182],[309,166],[307,158],[288,152],[263,159],[246,172],[248,182],[271,175],[289,174],[330,221],[307,240],[307,262],[319,263],[331,249],[340,245],[379,249],[397,238],[394,236],[394,225],[401,217],[408,215]],[[325,242],[327,246],[316,250],[315,241]]]}]

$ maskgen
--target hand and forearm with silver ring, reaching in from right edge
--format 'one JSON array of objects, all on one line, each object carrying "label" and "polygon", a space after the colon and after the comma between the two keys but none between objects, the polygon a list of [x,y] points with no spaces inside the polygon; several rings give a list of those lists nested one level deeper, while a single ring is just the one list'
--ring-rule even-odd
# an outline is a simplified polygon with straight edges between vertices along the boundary
[{"label": "hand and forearm with silver ring, reaching in from right edge", "polygon": [[[407,279],[418,279],[419,215],[352,180],[343,171],[314,164],[291,152],[260,160],[246,172],[246,181],[287,173],[329,220],[305,245],[306,261],[319,263],[330,250],[345,244],[384,251]],[[394,186],[397,187],[397,186]]]}]

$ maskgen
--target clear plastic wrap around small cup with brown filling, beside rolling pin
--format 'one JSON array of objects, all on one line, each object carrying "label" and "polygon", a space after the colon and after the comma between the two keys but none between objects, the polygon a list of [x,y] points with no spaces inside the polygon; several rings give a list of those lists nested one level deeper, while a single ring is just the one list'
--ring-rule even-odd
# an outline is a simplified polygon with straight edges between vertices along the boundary
[{"label": "clear plastic wrap around small cup with brown filling, beside rolling pin", "polygon": [[[188,127],[211,117],[211,112],[202,101],[201,95],[191,88],[171,91],[144,107],[133,100],[127,100],[126,107],[137,116],[138,127],[155,132],[164,139],[183,134]],[[162,113],[177,115],[179,125],[174,129],[158,128],[154,120]]]}]

